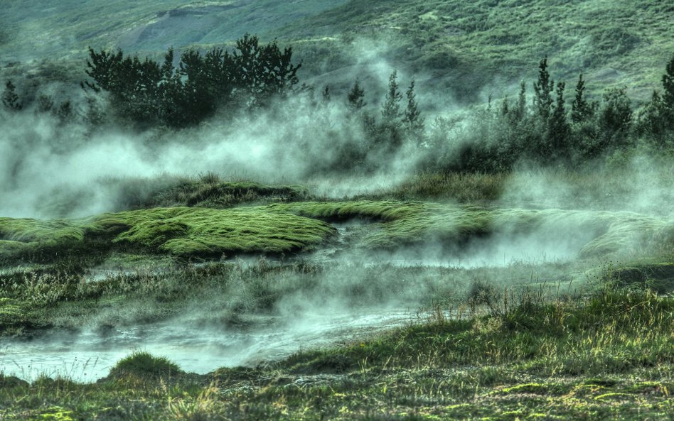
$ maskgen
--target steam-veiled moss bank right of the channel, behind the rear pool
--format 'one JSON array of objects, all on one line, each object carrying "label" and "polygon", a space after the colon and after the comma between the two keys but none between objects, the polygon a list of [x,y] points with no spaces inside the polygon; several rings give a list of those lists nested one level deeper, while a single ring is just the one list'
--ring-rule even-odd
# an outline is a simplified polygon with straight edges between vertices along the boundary
[{"label": "steam-veiled moss bank right of the channel, behind the rear pool", "polygon": [[671,247],[674,222],[632,212],[565,209],[489,209],[427,202],[297,202],[271,204],[272,212],[291,212],[328,221],[368,219],[380,228],[365,238],[370,248],[396,248],[432,241],[457,244],[475,236],[578,232],[587,236],[582,257],[638,253],[653,245]]}]

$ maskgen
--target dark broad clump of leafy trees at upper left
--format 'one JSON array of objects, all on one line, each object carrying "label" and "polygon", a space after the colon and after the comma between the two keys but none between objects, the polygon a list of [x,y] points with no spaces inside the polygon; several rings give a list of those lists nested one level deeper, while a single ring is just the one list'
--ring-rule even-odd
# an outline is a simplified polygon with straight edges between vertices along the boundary
[{"label": "dark broad clump of leafy trees at upper left", "polygon": [[92,82],[83,87],[109,92],[114,111],[141,128],[193,126],[219,108],[264,106],[293,89],[301,67],[292,64],[291,48],[281,50],[275,41],[260,45],[249,34],[237,40],[232,53],[222,48],[204,55],[186,50],[177,68],[172,48],[162,65],[148,58],[124,58],[121,50],[96,53],[90,48],[89,55]]}]

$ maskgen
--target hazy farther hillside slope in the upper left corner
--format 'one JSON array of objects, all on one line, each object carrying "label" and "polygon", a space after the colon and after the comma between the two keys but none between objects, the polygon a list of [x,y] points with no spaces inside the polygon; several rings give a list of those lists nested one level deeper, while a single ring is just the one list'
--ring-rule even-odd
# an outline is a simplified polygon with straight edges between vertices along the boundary
[{"label": "hazy farther hillside slope in the upper left corner", "polygon": [[[245,32],[269,33],[343,1],[18,1],[3,2],[4,60],[58,51],[77,55],[87,45],[154,52],[171,45],[224,43]],[[3,37],[0,36],[0,43]]]}]

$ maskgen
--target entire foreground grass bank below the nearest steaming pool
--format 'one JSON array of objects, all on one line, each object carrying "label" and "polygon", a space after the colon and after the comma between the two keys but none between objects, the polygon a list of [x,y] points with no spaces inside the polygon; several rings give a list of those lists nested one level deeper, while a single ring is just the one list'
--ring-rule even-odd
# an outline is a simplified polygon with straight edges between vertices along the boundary
[{"label": "entire foreground grass bank below the nearest steaming pool", "polygon": [[574,299],[513,298],[491,305],[488,314],[466,311],[446,319],[438,313],[381,337],[300,352],[267,368],[223,368],[198,376],[176,371],[166,359],[134,354],[91,385],[48,378],[28,384],[0,376],[0,415],[6,420],[670,419],[672,297],[605,288]]}]

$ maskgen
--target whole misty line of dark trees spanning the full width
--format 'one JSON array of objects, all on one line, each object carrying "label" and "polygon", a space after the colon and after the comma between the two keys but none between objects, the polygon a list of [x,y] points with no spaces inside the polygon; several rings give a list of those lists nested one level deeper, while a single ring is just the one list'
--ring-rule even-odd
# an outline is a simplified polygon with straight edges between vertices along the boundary
[{"label": "whole misty line of dark trees spanning the full width", "polygon": [[[292,48],[275,41],[262,45],[249,34],[232,50],[191,49],[176,58],[170,49],[163,62],[90,49],[89,80],[82,82],[86,103],[77,108],[43,95],[31,109],[62,123],[78,119],[91,128],[107,122],[141,131],[184,129],[209,119],[227,124],[264,112],[275,116],[279,148],[296,148],[300,155],[323,148],[306,157],[316,160],[316,171],[367,173],[402,152],[423,170],[495,172],[523,161],[581,165],[639,145],[674,148],[674,58],[665,67],[662,91],[638,109],[624,88],[607,89],[600,101],[589,99],[583,75],[567,93],[565,82],[552,80],[544,58],[529,85],[533,92],[521,82],[514,99],[490,99],[460,118],[428,122],[414,80],[401,89],[393,72],[385,94],[366,95],[356,78],[343,96],[333,97],[328,87],[319,96],[315,87],[299,84],[302,64],[292,54]],[[366,97],[379,100],[368,104]],[[11,113],[27,108],[11,81],[2,103]],[[299,116],[309,123],[294,124]]]}]

